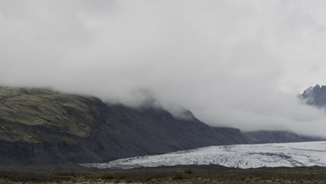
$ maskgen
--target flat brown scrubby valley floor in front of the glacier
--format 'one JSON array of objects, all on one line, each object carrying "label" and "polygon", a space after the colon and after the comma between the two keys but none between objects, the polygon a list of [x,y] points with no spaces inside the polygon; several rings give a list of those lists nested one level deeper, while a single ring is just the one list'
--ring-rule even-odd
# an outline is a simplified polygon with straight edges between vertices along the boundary
[{"label": "flat brown scrubby valley floor in front of the glacier", "polygon": [[[40,172],[42,168],[45,172]],[[0,167],[0,170],[1,184],[326,183],[326,168],[324,167],[232,169],[219,165],[206,165],[102,170],[71,165]],[[72,170],[76,172],[71,172]]]}]

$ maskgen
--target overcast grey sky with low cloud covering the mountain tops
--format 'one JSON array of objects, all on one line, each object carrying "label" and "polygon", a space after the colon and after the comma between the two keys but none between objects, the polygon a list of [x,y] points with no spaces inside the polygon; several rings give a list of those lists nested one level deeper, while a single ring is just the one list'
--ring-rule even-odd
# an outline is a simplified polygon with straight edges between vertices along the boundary
[{"label": "overcast grey sky with low cloud covering the mountain tops", "polygon": [[0,0],[0,85],[125,105],[151,93],[210,125],[325,135],[324,110],[297,100],[326,84],[325,10],[299,0]]}]

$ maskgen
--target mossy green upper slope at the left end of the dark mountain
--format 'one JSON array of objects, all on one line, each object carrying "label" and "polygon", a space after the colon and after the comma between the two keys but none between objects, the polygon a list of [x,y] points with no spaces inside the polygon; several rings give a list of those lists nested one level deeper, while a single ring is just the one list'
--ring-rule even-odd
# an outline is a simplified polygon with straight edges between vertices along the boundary
[{"label": "mossy green upper slope at the left end of the dark mountain", "polygon": [[[0,87],[0,140],[64,141],[88,137],[101,116],[98,98],[59,93],[49,89]],[[47,131],[36,131],[38,128]],[[48,134],[47,132],[57,132]]]}]

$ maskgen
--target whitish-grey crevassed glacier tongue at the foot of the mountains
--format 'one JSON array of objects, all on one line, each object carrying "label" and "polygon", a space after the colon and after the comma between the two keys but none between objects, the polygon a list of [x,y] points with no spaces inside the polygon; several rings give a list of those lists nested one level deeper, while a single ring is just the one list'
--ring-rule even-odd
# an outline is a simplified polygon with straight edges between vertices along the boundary
[{"label": "whitish-grey crevassed glacier tongue at the foot of the mountains", "polygon": [[189,164],[219,164],[242,169],[258,167],[326,167],[326,141],[281,144],[209,146],[163,155],[81,164],[98,169],[132,169]]}]

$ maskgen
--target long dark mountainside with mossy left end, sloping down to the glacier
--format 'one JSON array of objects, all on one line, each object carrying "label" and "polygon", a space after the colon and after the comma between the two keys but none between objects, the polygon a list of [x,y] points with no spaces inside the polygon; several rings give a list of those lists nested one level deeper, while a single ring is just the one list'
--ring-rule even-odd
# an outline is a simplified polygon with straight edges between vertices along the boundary
[{"label": "long dark mountainside with mossy left end, sloping down to the glacier", "polygon": [[105,162],[244,143],[240,130],[175,118],[164,109],[106,105],[47,89],[0,88],[1,164]]}]

